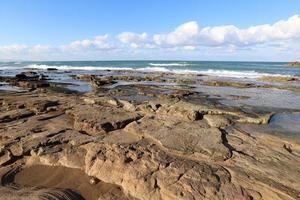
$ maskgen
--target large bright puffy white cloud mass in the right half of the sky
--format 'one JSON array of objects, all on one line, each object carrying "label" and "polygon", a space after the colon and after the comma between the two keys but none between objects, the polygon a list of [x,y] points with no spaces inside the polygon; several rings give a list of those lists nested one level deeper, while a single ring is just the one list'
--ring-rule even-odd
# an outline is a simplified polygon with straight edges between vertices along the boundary
[{"label": "large bright puffy white cloud mass in the right half of the sky", "polygon": [[187,22],[167,34],[156,34],[153,41],[160,47],[175,46],[249,46],[272,41],[300,38],[300,17],[294,15],[288,20],[273,25],[265,24],[239,29],[233,25],[199,28],[197,22]]}]

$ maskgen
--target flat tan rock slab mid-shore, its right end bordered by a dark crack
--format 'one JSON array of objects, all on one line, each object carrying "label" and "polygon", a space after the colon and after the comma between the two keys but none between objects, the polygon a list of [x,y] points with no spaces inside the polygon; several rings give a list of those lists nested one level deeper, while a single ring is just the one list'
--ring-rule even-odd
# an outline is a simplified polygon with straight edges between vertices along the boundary
[{"label": "flat tan rock slab mid-shore, its right end bordered by a dark crack", "polygon": [[125,130],[141,134],[181,154],[194,154],[212,160],[226,160],[231,156],[230,150],[223,144],[222,133],[201,123],[144,117],[138,123],[129,124]]}]

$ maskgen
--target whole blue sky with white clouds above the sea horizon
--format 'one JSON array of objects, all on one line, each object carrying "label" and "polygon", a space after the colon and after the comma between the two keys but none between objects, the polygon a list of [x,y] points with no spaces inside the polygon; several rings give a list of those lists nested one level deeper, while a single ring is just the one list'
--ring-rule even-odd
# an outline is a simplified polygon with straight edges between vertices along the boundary
[{"label": "whole blue sky with white clouds above the sea horizon", "polygon": [[1,0],[0,60],[300,60],[300,1]]}]

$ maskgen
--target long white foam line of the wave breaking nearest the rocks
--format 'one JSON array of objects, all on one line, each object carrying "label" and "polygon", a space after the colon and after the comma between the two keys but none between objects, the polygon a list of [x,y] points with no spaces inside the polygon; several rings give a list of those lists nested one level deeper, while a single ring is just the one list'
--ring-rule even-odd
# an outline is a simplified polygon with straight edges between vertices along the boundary
[{"label": "long white foam line of the wave breaking nearest the rocks", "polygon": [[164,72],[164,73],[174,73],[174,74],[203,74],[209,76],[218,77],[229,77],[229,78],[250,78],[255,79],[262,76],[286,76],[282,74],[269,74],[260,73],[256,71],[233,71],[233,70],[190,70],[190,69],[170,69],[166,67],[142,67],[142,68],[131,68],[131,67],[100,67],[100,66],[53,66],[53,65],[39,65],[31,64],[23,68],[34,68],[34,69],[47,69],[47,68],[57,68],[59,70],[88,70],[88,71],[102,71],[102,70],[125,70],[125,71],[140,71],[140,72]]}]

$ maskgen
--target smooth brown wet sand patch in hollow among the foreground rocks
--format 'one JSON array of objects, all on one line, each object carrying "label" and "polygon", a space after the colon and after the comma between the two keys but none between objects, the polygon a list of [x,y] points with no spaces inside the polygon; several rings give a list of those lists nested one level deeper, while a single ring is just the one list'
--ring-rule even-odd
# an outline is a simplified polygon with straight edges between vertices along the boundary
[{"label": "smooth brown wet sand patch in hollow among the foreground rocks", "polygon": [[67,188],[82,195],[87,200],[97,200],[106,193],[122,194],[116,185],[96,181],[79,169],[61,166],[34,165],[22,169],[15,175],[14,183],[20,186],[46,188]]}]

